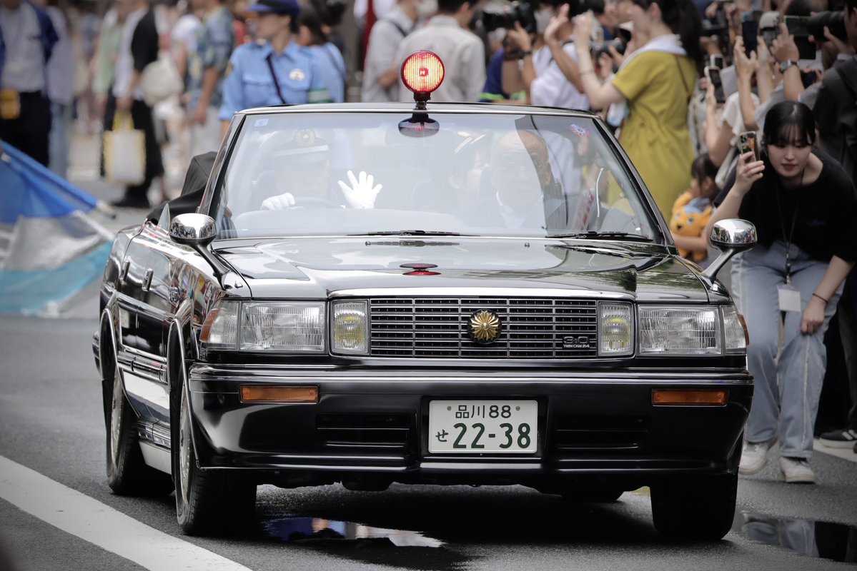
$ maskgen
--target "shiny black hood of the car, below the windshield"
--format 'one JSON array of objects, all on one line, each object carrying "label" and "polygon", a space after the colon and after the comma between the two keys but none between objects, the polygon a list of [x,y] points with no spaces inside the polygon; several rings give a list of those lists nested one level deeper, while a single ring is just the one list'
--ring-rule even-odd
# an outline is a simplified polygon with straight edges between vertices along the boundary
[{"label": "shiny black hood of the car, below the windshield", "polygon": [[[551,295],[550,290],[646,301],[708,301],[695,271],[666,247],[616,241],[443,236],[290,238],[221,243],[218,253],[255,298],[338,293]],[[421,273],[407,265],[432,265]],[[554,293],[555,294],[555,293]]]}]

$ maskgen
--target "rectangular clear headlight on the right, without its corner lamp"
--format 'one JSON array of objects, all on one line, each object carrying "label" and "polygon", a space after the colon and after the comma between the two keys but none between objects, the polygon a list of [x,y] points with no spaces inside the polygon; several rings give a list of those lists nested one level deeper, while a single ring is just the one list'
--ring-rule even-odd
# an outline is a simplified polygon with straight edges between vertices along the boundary
[{"label": "rectangular clear headlight on the right, without its corner lamp", "polygon": [[719,355],[716,307],[639,306],[640,354]]}]

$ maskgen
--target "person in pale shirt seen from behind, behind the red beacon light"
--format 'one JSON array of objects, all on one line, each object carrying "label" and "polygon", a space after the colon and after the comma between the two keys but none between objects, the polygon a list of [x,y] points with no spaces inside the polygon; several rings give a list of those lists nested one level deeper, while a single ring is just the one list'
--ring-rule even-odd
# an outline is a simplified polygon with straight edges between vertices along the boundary
[{"label": "person in pale shirt seen from behind, behind the red beacon light", "polygon": [[[470,32],[476,0],[438,0],[438,14],[399,44],[395,61],[418,50],[433,51],[445,68],[443,83],[432,101],[475,102],[485,85],[485,45]],[[399,79],[399,101],[413,101],[411,90]]]}]

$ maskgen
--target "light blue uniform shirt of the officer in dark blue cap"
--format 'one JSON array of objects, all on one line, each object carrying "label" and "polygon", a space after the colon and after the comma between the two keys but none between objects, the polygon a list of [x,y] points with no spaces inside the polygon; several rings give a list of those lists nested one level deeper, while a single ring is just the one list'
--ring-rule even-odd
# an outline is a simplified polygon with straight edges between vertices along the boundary
[{"label": "light blue uniform shirt of the officer in dark blue cap", "polygon": [[[251,107],[283,104],[267,63],[269,56],[286,104],[309,103],[310,91],[321,93],[324,85],[315,58],[295,42],[279,56],[267,42],[244,44],[232,52],[231,70],[223,83],[220,119],[229,121],[237,111]],[[330,101],[329,96],[323,98]]]}]

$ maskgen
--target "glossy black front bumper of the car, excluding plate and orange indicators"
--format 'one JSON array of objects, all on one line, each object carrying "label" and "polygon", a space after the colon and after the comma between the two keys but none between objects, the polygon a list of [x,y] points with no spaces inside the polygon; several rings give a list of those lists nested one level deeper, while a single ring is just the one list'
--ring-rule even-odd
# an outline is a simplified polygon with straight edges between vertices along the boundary
[{"label": "glossy black front bumper of the car, excluding plate and orange indicators", "polygon": [[[319,401],[247,404],[238,395],[243,384],[314,385]],[[652,390],[664,388],[725,389],[728,401],[653,405]],[[255,471],[260,482],[359,477],[549,487],[594,478],[632,486],[682,474],[734,473],[752,377],[691,368],[452,372],[196,365],[189,390],[201,467]],[[536,452],[429,454],[428,402],[435,399],[536,400]]]}]

